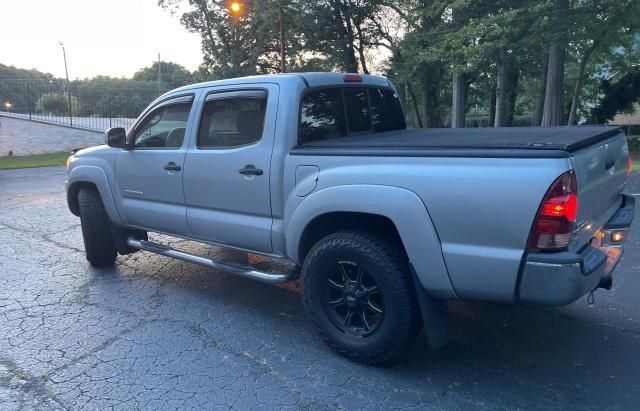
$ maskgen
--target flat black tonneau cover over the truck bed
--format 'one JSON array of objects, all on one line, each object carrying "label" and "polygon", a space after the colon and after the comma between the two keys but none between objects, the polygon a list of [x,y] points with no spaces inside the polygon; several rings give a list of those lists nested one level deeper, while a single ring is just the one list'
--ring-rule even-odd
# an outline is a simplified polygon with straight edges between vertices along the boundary
[{"label": "flat black tonneau cover over the truck bed", "polygon": [[[612,126],[420,128],[313,141],[300,145],[291,154],[340,155],[338,151],[344,150],[346,155],[358,155],[359,151],[363,155],[375,155],[375,152],[385,149],[390,151],[389,155],[398,155],[403,150],[415,153],[414,155],[425,150],[443,153],[459,150],[509,150],[520,154],[530,150],[559,150],[566,156],[566,153],[603,141],[620,132],[620,127]],[[524,155],[562,156],[561,153]]]}]

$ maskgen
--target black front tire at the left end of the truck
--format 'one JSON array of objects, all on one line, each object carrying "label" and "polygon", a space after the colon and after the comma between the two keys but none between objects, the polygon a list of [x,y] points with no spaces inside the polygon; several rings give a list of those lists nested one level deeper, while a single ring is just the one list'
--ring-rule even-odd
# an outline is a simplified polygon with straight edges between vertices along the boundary
[{"label": "black front tire at the left end of the truck", "polygon": [[87,261],[94,267],[113,265],[118,253],[100,194],[94,189],[82,188],[78,192],[78,204]]}]

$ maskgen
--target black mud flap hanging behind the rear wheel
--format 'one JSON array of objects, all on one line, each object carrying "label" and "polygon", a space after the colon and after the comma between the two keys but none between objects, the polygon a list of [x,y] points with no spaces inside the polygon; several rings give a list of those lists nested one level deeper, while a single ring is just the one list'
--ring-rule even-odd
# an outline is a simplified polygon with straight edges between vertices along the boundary
[{"label": "black mud flap hanging behind the rear wheel", "polygon": [[413,267],[411,267],[411,273],[418,296],[427,343],[436,350],[449,341],[449,307],[446,300],[433,298],[427,293]]}]

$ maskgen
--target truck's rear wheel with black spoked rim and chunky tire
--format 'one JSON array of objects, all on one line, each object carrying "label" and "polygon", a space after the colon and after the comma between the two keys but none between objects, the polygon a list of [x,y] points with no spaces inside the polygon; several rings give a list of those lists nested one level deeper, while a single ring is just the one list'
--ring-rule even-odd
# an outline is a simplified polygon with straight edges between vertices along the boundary
[{"label": "truck's rear wheel with black spoked rim and chunky tire", "polygon": [[420,317],[406,256],[357,231],[313,246],[302,268],[304,303],[324,340],[353,360],[379,364],[417,334]]}]

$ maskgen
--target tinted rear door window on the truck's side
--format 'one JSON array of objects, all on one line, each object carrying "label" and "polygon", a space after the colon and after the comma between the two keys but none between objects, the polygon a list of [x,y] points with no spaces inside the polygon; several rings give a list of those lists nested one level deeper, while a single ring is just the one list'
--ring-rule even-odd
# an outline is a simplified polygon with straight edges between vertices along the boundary
[{"label": "tinted rear door window on the truck's side", "polygon": [[198,147],[238,147],[262,138],[266,94],[207,101],[200,121]]}]

